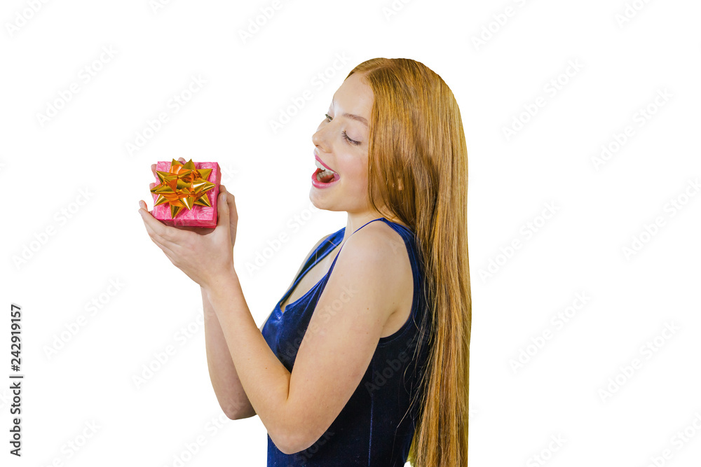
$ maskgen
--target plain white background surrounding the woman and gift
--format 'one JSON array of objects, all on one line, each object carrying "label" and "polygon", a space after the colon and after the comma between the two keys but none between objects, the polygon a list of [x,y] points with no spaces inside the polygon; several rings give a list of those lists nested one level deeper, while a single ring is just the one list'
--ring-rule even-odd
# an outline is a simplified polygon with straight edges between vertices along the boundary
[{"label": "plain white background surrounding the woman and gift", "polygon": [[[548,466],[697,465],[701,4],[299,0],[265,21],[271,1],[29,4],[0,9],[3,465],[174,466],[200,435],[186,466],[266,464],[260,419],[229,421],[212,391],[199,287],[151,242],[137,202],[151,209],[158,160],[219,162],[238,207],[235,263],[262,323],[311,246],[346,225],[344,212],[310,206],[311,135],[343,78],[372,57],[423,62],[461,109],[470,465],[541,465],[535,455]],[[205,85],[173,111],[192,76]],[[72,83],[79,92],[62,103]],[[290,108],[305,90],[312,98]],[[658,92],[667,97],[655,103]],[[39,118],[49,106],[61,108]],[[130,153],[161,112],[168,122]],[[606,159],[602,146],[613,148]],[[114,295],[111,280],[123,284]],[[11,303],[22,306],[21,459],[8,454]],[[79,332],[65,333],[81,315]],[[678,329],[663,333],[666,323]],[[169,345],[175,354],[135,384]]]}]

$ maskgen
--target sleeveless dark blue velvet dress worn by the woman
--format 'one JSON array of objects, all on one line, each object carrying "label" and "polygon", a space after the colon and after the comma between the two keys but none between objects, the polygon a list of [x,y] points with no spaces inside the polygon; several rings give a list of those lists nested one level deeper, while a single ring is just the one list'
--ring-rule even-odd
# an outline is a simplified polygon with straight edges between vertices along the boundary
[{"label": "sleeveless dark blue velvet dress worn by the woman", "polygon": [[[284,454],[268,435],[268,467],[402,467],[407,460],[421,402],[419,382],[426,370],[428,355],[430,316],[426,316],[427,332],[419,332],[421,320],[428,309],[423,293],[423,265],[411,230],[386,218],[370,222],[374,221],[384,221],[390,225],[401,235],[407,247],[414,274],[414,298],[409,319],[396,333],[381,337],[353,396],[311,447],[294,454]],[[313,251],[264,325],[263,337],[290,372],[309,320],[334,270],[338,253],[329,272],[299,300],[287,305],[284,313],[280,303],[287,299],[306,272],[342,242],[345,230],[342,228],[333,233]],[[417,352],[419,340],[423,340],[421,352]],[[414,396],[416,401],[411,404]]]}]

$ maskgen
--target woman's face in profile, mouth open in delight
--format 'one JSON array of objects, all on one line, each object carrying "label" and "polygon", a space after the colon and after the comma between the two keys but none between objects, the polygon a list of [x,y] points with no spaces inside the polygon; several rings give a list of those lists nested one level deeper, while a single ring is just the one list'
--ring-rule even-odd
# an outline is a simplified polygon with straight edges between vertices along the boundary
[{"label": "woman's face in profile, mouth open in delight", "polygon": [[[314,155],[338,174],[328,185],[312,183],[309,198],[319,209],[367,211],[367,158],[372,89],[352,74],[336,91],[324,120],[311,139]],[[317,162],[317,160],[313,161]],[[314,176],[316,179],[316,177]],[[320,182],[317,182],[320,183]]]}]

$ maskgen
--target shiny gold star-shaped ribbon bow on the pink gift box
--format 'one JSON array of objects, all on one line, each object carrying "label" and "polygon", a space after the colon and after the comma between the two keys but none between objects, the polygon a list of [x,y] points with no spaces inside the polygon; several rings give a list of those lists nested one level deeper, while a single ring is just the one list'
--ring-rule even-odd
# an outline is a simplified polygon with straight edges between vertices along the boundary
[{"label": "shiny gold star-shaped ribbon bow on the pink gift box", "polygon": [[173,159],[170,172],[156,171],[161,184],[151,188],[151,193],[158,195],[154,207],[170,203],[170,218],[175,218],[184,207],[192,209],[196,204],[212,207],[209,197],[205,195],[215,188],[214,183],[207,181],[210,173],[212,169],[196,169],[192,159],[184,164]]}]

